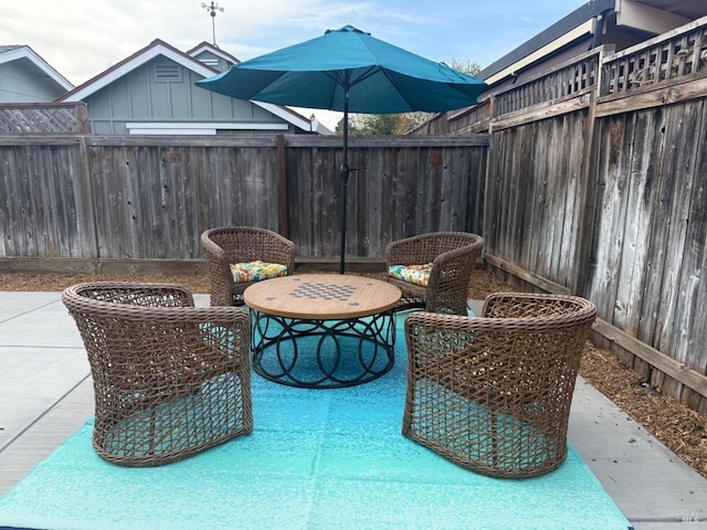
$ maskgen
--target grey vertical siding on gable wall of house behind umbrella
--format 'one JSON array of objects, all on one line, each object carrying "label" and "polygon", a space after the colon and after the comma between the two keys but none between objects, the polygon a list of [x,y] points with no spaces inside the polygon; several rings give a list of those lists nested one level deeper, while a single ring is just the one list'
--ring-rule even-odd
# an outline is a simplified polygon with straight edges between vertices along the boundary
[{"label": "grey vertical siding on gable wall of house behind umbrella", "polygon": [[[273,124],[257,132],[294,132],[285,121],[250,102],[205,91],[194,85],[202,77],[163,56],[156,57],[85,98],[93,131],[129,134],[128,124]],[[219,134],[252,134],[238,129]]]}]

